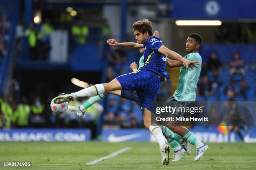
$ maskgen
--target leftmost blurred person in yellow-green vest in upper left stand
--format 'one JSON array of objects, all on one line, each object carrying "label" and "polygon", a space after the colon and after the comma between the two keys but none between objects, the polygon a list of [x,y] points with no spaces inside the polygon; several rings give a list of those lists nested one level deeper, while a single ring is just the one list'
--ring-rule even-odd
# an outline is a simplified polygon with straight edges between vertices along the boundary
[{"label": "leftmost blurred person in yellow-green vest in upper left stand", "polygon": [[38,41],[41,40],[42,35],[35,28],[35,25],[33,22],[29,24],[29,27],[25,30],[25,36],[28,37],[28,46],[30,49],[31,59],[36,60],[38,59],[39,55],[39,45]]}]

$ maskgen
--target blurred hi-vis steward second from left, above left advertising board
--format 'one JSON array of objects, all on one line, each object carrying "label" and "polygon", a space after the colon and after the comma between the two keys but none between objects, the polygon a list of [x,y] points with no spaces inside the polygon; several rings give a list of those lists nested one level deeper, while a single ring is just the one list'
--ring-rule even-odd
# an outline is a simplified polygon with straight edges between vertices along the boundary
[{"label": "blurred hi-vis steward second from left, above left advertising board", "polygon": [[19,128],[28,127],[28,117],[30,115],[31,108],[27,104],[27,98],[22,97],[22,103],[18,105],[17,110],[15,111],[15,115],[17,117],[17,126]]}]

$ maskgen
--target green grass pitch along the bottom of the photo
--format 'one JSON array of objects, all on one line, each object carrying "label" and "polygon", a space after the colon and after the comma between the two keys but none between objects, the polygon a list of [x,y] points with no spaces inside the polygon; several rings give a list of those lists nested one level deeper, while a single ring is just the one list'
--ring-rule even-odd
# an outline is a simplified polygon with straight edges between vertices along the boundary
[{"label": "green grass pitch along the bottom of the photo", "polygon": [[[256,143],[209,143],[209,150],[198,162],[194,162],[195,147],[191,155],[184,154],[180,162],[161,165],[157,143],[125,142],[0,142],[0,162],[31,161],[35,170],[87,170],[87,169],[255,169]],[[131,147],[120,155],[103,160],[96,165],[84,165],[125,147]],[[171,151],[171,158],[173,151]],[[3,168],[0,169],[21,169]]]}]

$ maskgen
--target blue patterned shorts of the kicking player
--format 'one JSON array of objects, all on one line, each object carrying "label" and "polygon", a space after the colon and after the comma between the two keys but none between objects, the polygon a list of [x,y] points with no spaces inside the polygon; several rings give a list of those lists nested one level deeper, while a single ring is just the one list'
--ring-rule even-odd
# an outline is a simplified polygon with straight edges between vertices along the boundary
[{"label": "blue patterned shorts of the kicking player", "polygon": [[156,73],[148,70],[139,70],[116,77],[122,90],[134,90],[137,92],[142,107],[151,112],[152,105],[156,102],[156,94],[160,90],[160,79]]}]

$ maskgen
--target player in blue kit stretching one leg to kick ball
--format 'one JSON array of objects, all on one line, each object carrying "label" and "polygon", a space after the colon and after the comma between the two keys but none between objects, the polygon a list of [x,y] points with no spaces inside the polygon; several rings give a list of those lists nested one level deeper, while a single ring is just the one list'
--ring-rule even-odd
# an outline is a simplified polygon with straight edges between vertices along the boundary
[{"label": "player in blue kit stretching one leg to kick ball", "polygon": [[118,43],[114,39],[107,40],[107,43],[111,46],[122,47],[128,50],[146,47],[143,67],[137,72],[116,77],[111,82],[93,85],[69,95],[55,97],[54,103],[59,104],[72,101],[77,97],[90,97],[102,93],[110,93],[114,90],[135,90],[143,107],[143,123],[145,128],[152,133],[159,143],[161,164],[168,165],[170,147],[166,145],[165,137],[159,125],[151,125],[151,112],[154,112],[151,104],[156,101],[156,93],[160,89],[160,79],[166,80],[169,78],[168,73],[165,71],[166,57],[163,57],[162,54],[183,62],[186,68],[198,62],[186,60],[176,52],[166,48],[159,37],[152,36],[153,28],[149,20],[145,19],[133,23],[133,33],[138,43]]}]

